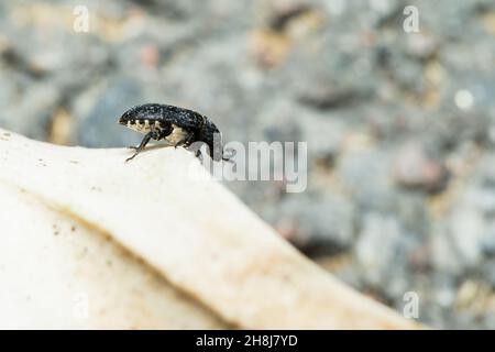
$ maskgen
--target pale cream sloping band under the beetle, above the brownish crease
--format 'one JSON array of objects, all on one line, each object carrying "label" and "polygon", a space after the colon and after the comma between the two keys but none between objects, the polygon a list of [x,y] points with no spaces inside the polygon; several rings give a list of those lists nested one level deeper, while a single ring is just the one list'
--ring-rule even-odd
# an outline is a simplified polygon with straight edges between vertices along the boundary
[{"label": "pale cream sloping band under the beetle, above the brownish crease", "polygon": [[[55,146],[0,130],[0,184],[57,209],[61,221],[70,217],[110,237],[237,327],[419,327],[300,255],[210,179],[187,151],[151,150],[125,164],[129,153]],[[205,177],[198,180],[191,174]],[[95,241],[94,234],[88,237]],[[90,268],[85,268],[86,279],[96,276]],[[205,324],[224,324],[208,320],[201,309],[197,315]]]}]

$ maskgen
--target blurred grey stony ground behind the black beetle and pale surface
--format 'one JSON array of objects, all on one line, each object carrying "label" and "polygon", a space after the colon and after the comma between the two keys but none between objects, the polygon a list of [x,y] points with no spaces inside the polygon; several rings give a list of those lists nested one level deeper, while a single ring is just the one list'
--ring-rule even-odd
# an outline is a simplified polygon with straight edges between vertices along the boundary
[{"label": "blurred grey stony ground behind the black beetle and pale surface", "polygon": [[226,186],[360,292],[495,329],[494,1],[0,2],[1,128],[124,146],[141,135],[117,119],[143,102],[200,111],[226,140],[307,141],[306,191]]}]

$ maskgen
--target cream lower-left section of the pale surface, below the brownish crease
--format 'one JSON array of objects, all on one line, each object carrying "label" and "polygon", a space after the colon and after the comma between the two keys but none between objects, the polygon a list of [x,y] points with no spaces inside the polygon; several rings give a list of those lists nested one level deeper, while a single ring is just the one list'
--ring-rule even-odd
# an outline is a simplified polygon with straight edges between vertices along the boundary
[{"label": "cream lower-left section of the pale surface, below the brownish crease", "polygon": [[0,329],[221,329],[105,234],[0,184]]}]

